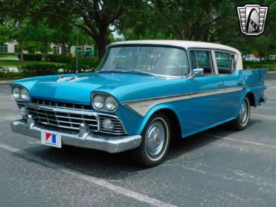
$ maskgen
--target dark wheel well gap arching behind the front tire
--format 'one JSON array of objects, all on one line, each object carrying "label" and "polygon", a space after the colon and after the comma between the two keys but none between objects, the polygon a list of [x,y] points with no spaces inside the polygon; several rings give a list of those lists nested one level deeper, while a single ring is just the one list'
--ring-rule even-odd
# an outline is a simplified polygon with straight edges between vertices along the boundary
[{"label": "dark wheel well gap arching behind the front tire", "polygon": [[160,110],[157,110],[155,113],[157,112],[161,112],[164,115],[166,115],[166,117],[168,117],[168,120],[170,121],[170,132],[171,132],[172,138],[175,138],[175,139],[181,138],[181,126],[175,112],[170,109],[160,109]]}]

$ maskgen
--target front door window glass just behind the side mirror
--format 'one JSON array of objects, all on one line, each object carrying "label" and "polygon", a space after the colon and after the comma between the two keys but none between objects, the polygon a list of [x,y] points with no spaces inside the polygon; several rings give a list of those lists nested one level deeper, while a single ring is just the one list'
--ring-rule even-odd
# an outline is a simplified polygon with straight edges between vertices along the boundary
[{"label": "front door window glass just behind the side mirror", "polygon": [[204,50],[191,50],[190,51],[190,59],[192,62],[193,69],[195,68],[203,68],[204,75],[212,75],[213,74],[213,64],[212,58],[209,51]]}]

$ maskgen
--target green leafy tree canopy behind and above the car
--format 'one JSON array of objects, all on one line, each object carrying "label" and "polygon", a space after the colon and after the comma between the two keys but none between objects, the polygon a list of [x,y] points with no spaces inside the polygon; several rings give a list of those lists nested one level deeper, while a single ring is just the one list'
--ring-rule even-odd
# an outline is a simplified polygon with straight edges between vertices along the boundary
[{"label": "green leafy tree canopy behind and above the car", "polygon": [[[246,37],[240,32],[236,6],[259,3],[269,6],[266,32]],[[75,27],[84,41],[95,42],[99,58],[116,30],[124,39],[184,39],[210,41],[234,46],[244,52],[257,50],[260,55],[275,51],[276,2],[237,0],[3,0],[0,21],[10,19],[48,19],[52,22],[52,42],[61,48],[75,42]],[[3,25],[1,25],[3,26]],[[49,24],[48,24],[49,26]],[[111,29],[112,28],[112,29]],[[0,28],[5,34],[6,30]],[[49,31],[48,31],[49,32]],[[41,34],[41,39],[46,32]],[[46,35],[47,36],[47,35]],[[5,41],[1,37],[0,41]],[[81,38],[80,38],[81,40]],[[276,51],[275,51],[276,52]]]}]

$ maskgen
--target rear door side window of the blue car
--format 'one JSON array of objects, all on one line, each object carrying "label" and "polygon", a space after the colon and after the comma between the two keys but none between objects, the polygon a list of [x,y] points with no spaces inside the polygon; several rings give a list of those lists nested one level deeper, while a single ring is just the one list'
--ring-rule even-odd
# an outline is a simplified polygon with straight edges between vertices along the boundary
[{"label": "rear door side window of the blue car", "polygon": [[234,55],[230,55],[226,52],[215,52],[215,58],[217,61],[217,70],[219,74],[232,74]]}]

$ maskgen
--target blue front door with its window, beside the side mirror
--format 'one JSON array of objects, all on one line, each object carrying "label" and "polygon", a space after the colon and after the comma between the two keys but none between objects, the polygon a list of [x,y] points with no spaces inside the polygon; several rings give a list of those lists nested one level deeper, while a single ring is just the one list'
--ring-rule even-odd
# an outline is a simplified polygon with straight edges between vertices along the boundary
[{"label": "blue front door with its window, beside the side mirror", "polygon": [[190,79],[192,92],[190,128],[195,130],[221,120],[223,82],[215,74],[211,50],[190,50],[192,68],[203,68],[204,76]]}]

